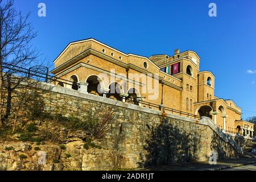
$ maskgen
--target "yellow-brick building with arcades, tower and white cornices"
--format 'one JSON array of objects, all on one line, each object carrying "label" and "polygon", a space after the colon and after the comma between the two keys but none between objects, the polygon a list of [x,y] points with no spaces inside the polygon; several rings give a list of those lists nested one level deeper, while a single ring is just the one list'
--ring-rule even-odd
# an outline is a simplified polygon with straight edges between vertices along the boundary
[{"label": "yellow-brick building with arcades, tower and white cornices", "polygon": [[144,57],[86,39],[69,43],[54,64],[57,86],[185,117],[209,117],[226,133],[253,137],[253,124],[241,121],[241,108],[214,95],[215,76],[200,71],[195,51]]}]

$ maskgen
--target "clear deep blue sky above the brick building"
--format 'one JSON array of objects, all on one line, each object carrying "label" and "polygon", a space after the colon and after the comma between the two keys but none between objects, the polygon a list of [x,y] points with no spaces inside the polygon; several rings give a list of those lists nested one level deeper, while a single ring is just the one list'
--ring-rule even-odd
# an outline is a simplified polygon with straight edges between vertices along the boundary
[{"label": "clear deep blue sky above the brick building", "polygon": [[[46,3],[46,17],[38,16],[40,2]],[[217,5],[217,17],[208,16],[210,2]],[[51,68],[69,42],[87,38],[143,56],[191,49],[201,57],[200,71],[216,75],[216,96],[234,100],[243,118],[256,115],[255,0],[16,0],[15,5],[31,11],[38,31],[34,44]]]}]

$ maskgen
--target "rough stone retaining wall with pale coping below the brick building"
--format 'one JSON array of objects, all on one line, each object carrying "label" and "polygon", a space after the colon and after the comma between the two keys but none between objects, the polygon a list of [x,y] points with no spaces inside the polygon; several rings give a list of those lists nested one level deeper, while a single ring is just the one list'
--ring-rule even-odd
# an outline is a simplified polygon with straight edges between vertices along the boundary
[{"label": "rough stone retaining wall with pale coping below the brick building", "polygon": [[[85,150],[82,140],[69,142],[65,153],[71,154],[70,158],[66,158],[64,152],[57,152],[59,164],[53,164],[53,158],[48,156],[47,163],[42,166],[38,164],[39,151],[34,151],[33,147],[28,151],[5,151],[6,146],[17,143],[2,142],[0,169],[31,169],[26,167],[24,160],[10,157],[23,153],[28,154],[27,163],[34,164],[35,169],[51,170],[57,165],[55,170],[109,170],[207,161],[210,151],[216,152],[218,159],[234,158],[240,150],[234,140],[218,131],[208,118],[196,121],[76,90],[48,86],[51,91],[43,94],[47,110],[56,110],[64,115],[82,115],[88,109],[96,111],[104,107],[115,110],[116,123],[100,140],[103,149]],[[31,143],[23,144],[32,146]],[[43,145],[40,148],[44,148],[47,155],[52,154],[51,147]]]}]

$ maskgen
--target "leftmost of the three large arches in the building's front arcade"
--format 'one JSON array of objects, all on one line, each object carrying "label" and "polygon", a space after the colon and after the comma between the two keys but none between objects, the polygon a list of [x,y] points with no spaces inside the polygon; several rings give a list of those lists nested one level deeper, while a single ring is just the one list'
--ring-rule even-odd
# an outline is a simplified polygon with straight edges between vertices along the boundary
[{"label": "leftmost of the three large arches in the building's front arcade", "polygon": [[86,78],[88,83],[87,92],[97,96],[103,96],[101,89],[104,88],[104,82],[97,75],[90,75]]}]

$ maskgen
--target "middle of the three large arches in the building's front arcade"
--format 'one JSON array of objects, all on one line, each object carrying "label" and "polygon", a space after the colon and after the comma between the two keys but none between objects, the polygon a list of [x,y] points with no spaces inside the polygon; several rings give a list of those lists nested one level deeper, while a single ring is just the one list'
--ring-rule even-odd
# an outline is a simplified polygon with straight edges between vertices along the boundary
[{"label": "middle of the three large arches in the building's front arcade", "polygon": [[122,101],[123,98],[120,96],[120,94],[123,93],[123,88],[118,82],[113,81],[109,84],[108,88],[109,93],[106,94],[107,98]]}]

